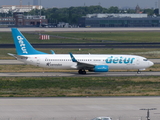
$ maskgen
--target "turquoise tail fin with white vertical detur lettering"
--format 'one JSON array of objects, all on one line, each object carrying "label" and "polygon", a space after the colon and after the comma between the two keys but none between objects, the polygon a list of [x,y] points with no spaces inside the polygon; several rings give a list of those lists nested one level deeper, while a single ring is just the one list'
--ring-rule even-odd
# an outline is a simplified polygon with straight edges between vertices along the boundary
[{"label": "turquoise tail fin with white vertical detur lettering", "polygon": [[11,30],[18,55],[46,54],[34,49],[17,28],[12,28]]}]

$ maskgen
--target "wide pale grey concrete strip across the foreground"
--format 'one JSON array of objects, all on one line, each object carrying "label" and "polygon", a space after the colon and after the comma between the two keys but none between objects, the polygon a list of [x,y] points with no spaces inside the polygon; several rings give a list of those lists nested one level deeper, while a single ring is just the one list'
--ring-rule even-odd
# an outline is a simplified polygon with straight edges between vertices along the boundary
[{"label": "wide pale grey concrete strip across the foreground", "polygon": [[160,119],[160,97],[1,98],[0,120],[145,120],[142,108],[157,108],[150,118]]}]

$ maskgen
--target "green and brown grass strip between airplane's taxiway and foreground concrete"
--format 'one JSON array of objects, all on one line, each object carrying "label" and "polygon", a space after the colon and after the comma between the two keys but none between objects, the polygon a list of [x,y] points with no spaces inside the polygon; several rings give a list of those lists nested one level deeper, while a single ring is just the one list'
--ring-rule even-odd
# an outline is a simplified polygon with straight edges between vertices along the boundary
[{"label": "green and brown grass strip between airplane's taxiway and foreground concrete", "polygon": [[3,77],[1,97],[159,96],[159,77]]}]

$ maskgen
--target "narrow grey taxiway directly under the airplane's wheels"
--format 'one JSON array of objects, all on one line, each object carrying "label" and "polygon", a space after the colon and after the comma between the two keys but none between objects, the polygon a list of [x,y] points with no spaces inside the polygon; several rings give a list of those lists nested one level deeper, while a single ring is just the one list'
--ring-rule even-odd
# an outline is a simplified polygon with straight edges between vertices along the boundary
[{"label": "narrow grey taxiway directly under the airplane's wheels", "polygon": [[120,76],[160,76],[160,72],[105,72],[94,73],[87,72],[85,75],[80,75],[78,72],[31,72],[31,73],[0,73],[0,77],[120,77]]}]

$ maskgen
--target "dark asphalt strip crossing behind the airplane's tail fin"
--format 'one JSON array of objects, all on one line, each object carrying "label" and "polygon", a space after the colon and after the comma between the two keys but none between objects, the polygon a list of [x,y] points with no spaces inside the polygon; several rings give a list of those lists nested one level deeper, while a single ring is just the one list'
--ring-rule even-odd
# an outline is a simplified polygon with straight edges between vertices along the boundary
[{"label": "dark asphalt strip crossing behind the airplane's tail fin", "polygon": [[[32,44],[34,48],[160,48],[160,43],[43,43]],[[0,48],[15,48],[14,44],[0,44]]]}]

